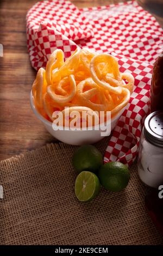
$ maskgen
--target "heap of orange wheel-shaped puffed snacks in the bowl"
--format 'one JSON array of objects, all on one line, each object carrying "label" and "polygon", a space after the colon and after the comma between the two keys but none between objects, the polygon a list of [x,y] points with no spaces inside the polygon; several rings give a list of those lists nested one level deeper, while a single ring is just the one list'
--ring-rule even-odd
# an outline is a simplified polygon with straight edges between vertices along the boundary
[{"label": "heap of orange wheel-shaped puffed snacks in the bowl", "polygon": [[37,72],[32,94],[37,111],[48,121],[54,121],[55,111],[65,113],[65,107],[96,115],[110,111],[113,118],[129,102],[133,87],[134,77],[120,72],[115,57],[77,47],[65,62],[62,50],[51,54],[46,69]]}]

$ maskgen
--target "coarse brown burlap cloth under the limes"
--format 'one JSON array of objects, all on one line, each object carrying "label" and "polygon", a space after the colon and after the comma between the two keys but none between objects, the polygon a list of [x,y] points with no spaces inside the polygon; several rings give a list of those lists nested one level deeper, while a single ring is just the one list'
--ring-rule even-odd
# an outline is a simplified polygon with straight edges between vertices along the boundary
[{"label": "coarse brown burlap cloth under the limes", "polygon": [[[104,153],[107,140],[97,144]],[[136,164],[127,189],[102,188],[90,203],[74,195],[76,147],[50,144],[1,161],[1,245],[160,245],[162,237],[147,215]]]}]

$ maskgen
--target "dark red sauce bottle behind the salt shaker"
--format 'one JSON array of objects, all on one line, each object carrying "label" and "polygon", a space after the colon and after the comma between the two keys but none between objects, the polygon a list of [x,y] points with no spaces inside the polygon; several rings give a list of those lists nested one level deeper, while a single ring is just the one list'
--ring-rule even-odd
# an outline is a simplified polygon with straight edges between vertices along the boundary
[{"label": "dark red sauce bottle behind the salt shaker", "polygon": [[153,66],[151,83],[151,112],[163,111],[163,53]]}]

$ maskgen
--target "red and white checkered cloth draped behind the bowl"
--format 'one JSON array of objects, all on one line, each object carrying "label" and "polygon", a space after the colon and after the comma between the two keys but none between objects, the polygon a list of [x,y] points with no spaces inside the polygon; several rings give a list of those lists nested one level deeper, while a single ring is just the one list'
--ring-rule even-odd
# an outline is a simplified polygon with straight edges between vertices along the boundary
[{"label": "red and white checkered cloth draped behind the bowl", "polygon": [[36,3],[27,14],[27,44],[32,66],[45,68],[49,55],[60,48],[65,59],[77,45],[110,52],[121,72],[135,77],[134,92],[112,133],[104,161],[135,160],[143,119],[148,113],[152,65],[163,43],[155,18],[135,1],[78,9],[64,0]]}]

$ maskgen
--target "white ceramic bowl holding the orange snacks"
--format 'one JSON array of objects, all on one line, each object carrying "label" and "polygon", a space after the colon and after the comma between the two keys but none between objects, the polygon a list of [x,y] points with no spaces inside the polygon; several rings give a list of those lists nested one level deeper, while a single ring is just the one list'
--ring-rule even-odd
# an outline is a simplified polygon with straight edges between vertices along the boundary
[{"label": "white ceramic bowl holding the orange snacks", "polygon": [[[95,142],[100,141],[103,136],[101,136],[101,132],[103,132],[101,129],[95,130],[93,127],[93,130],[53,130],[52,123],[45,118],[42,117],[42,115],[37,111],[35,105],[34,105],[34,98],[32,95],[32,92],[30,92],[30,106],[32,107],[32,110],[36,117],[42,121],[43,125],[46,127],[47,131],[51,133],[51,135],[59,141],[71,144],[71,145],[82,145],[82,144],[92,144]],[[122,108],[120,112],[115,115],[114,118],[111,119],[111,131],[114,129],[114,127],[117,124],[117,121],[120,119],[122,113],[126,107]]]}]

